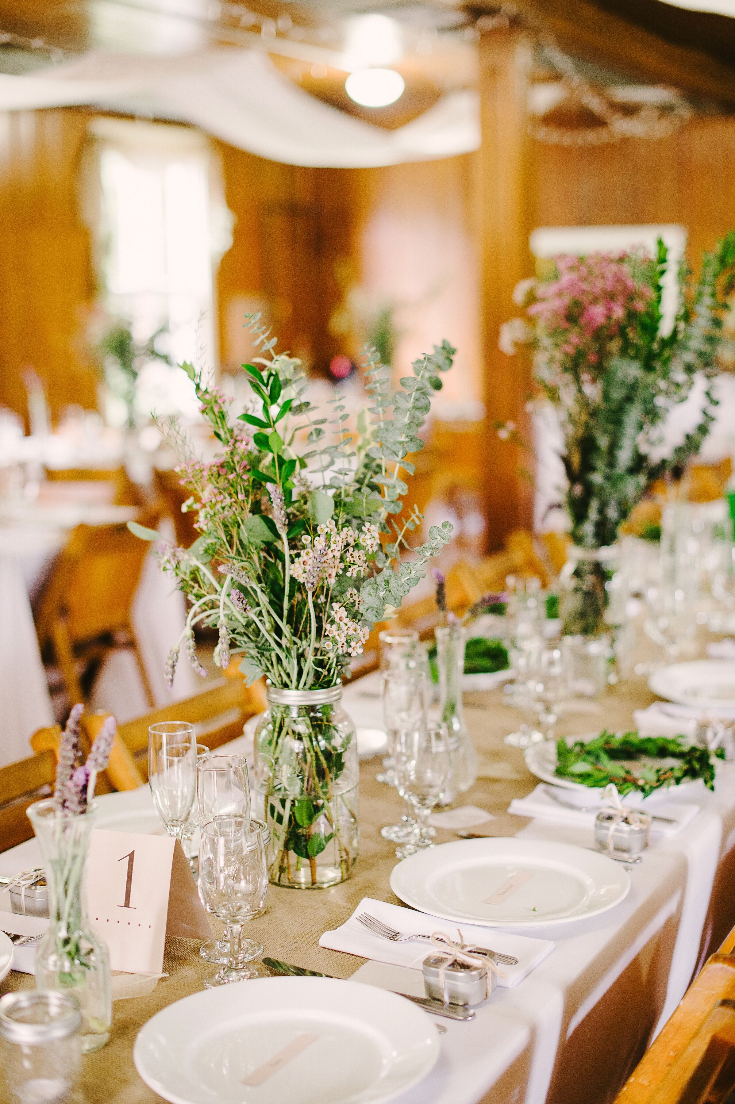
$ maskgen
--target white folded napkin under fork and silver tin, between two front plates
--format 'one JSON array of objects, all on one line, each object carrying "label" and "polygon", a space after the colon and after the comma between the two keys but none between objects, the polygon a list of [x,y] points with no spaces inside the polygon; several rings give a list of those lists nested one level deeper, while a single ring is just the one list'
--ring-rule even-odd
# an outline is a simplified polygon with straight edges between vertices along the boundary
[{"label": "white folded napkin under fork and silver tin, between two front plates", "polygon": [[500,954],[518,958],[518,966],[499,966],[504,975],[498,978],[498,985],[512,989],[534,969],[539,963],[552,953],[554,944],[550,940],[532,940],[526,935],[508,935],[497,928],[478,927],[473,924],[461,924],[458,928],[448,920],[439,920],[424,912],[403,909],[401,905],[363,898],[350,919],[333,932],[324,932],[319,940],[320,947],[330,951],[342,951],[348,955],[360,955],[362,958],[373,958],[392,966],[408,966],[420,970],[424,959],[432,954],[432,944],[423,940],[391,943],[383,940],[358,922],[360,913],[366,912],[376,920],[388,924],[398,932],[411,935],[433,935],[434,932],[445,932],[455,942],[461,932],[466,944],[473,943],[479,947],[490,947]]}]

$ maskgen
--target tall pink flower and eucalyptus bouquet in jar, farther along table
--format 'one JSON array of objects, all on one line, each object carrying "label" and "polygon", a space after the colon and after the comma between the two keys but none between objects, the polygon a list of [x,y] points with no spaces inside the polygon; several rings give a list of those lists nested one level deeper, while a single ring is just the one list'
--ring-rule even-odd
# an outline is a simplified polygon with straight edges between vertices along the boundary
[{"label": "tall pink flower and eucalyptus bouquet in jar, farther along table", "polygon": [[[515,288],[531,325],[515,318],[501,329],[503,352],[533,348],[535,381],[556,407],[564,435],[574,545],[561,586],[567,633],[605,627],[620,523],[654,479],[699,450],[714,421],[712,383],[735,287],[735,233],[703,255],[693,288],[680,270],[671,327],[662,314],[669,264],[661,240],[656,257],[642,251],[553,257],[550,278]],[[691,393],[697,372],[706,384],[700,422],[662,453],[667,416]]]}]

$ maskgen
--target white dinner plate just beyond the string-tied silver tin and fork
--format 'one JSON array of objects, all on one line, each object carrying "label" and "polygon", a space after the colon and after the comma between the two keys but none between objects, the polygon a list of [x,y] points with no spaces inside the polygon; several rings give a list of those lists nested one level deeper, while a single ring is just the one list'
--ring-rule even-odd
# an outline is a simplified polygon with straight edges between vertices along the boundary
[{"label": "white dinner plate just beyond the string-tied silver tin and fork", "polygon": [[466,839],[418,851],[391,889],[419,912],[484,927],[568,924],[612,909],[630,879],[601,853],[535,839]]}]

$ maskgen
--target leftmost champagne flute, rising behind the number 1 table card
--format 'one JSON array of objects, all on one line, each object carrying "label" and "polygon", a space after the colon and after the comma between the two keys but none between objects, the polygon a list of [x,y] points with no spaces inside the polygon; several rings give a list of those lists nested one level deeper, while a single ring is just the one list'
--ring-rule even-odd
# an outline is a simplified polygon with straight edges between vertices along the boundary
[{"label": "leftmost champagne flute, rising behind the number 1 table card", "polygon": [[185,721],[148,730],[148,784],[169,836],[181,842],[196,792],[196,734]]}]

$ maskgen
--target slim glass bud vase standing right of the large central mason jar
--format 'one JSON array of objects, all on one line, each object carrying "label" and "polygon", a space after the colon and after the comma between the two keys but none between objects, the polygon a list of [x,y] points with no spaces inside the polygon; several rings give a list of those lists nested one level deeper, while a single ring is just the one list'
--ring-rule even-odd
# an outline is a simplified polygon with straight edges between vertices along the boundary
[{"label": "slim glass bud vase standing right of the large central mason jar", "polygon": [[449,730],[452,795],[465,793],[477,782],[477,753],[465,723],[462,676],[467,633],[461,625],[438,626],[436,662],[439,670],[439,719]]}]

